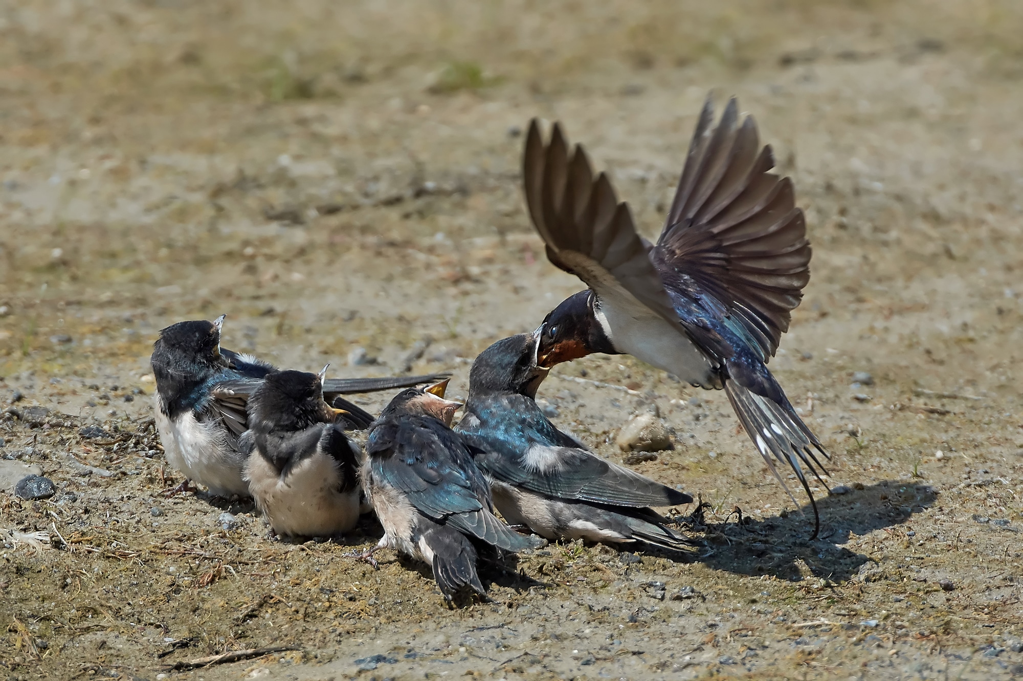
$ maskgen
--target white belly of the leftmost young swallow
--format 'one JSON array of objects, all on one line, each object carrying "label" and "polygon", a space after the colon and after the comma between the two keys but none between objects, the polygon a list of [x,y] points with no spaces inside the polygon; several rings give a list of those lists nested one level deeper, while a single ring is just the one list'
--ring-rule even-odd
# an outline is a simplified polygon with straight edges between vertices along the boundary
[{"label": "white belly of the leftmost young swallow", "polygon": [[241,480],[244,456],[227,444],[217,423],[201,423],[191,412],[171,421],[157,405],[157,432],[167,462],[190,481],[205,485],[211,494],[249,496]]}]

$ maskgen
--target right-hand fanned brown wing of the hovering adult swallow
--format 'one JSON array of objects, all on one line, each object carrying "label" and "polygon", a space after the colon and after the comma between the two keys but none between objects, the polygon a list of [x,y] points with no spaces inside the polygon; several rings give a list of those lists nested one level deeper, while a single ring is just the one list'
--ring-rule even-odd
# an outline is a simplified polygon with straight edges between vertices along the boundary
[{"label": "right-hand fanned brown wing of the hovering adult swallow", "polygon": [[757,154],[756,124],[728,101],[716,127],[708,100],[654,258],[712,292],[757,340],[766,360],[809,281],[811,251],[792,181]]}]

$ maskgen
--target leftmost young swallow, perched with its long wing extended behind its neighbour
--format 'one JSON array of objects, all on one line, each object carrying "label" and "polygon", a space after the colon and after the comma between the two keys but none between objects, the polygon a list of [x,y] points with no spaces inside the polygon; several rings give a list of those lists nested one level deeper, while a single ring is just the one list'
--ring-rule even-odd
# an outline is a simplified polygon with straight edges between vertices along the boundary
[{"label": "leftmost young swallow, perched with its long wing extended behind its neighbour", "polygon": [[[161,330],[153,345],[152,374],[157,379],[155,421],[167,462],[185,476],[177,491],[194,481],[210,493],[249,495],[241,479],[246,457],[238,438],[248,428],[246,402],[273,365],[252,355],[220,347],[224,315],[213,322],[197,320]],[[324,398],[345,410],[356,427],[364,428],[371,414],[341,398],[436,380],[439,376],[341,378],[325,381]]]}]

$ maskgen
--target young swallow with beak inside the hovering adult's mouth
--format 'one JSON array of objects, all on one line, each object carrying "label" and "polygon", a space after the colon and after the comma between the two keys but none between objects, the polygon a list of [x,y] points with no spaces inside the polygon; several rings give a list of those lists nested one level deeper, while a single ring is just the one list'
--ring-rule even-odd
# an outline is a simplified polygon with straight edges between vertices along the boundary
[{"label": "young swallow with beak inside the hovering adult's mouth", "polygon": [[469,373],[465,415],[455,430],[491,479],[494,506],[508,523],[549,540],[681,549],[651,506],[693,497],[589,452],[559,430],[534,401],[547,369],[536,363],[539,329],[498,340]]}]

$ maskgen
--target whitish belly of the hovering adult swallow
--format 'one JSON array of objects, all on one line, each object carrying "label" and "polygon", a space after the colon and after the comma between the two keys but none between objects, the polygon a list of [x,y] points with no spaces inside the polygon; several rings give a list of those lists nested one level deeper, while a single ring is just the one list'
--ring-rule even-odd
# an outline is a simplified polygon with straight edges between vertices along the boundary
[{"label": "whitish belly of the hovering adult swallow", "polygon": [[680,324],[668,322],[631,296],[621,301],[604,298],[601,303],[611,330],[608,336],[616,350],[688,383],[715,387],[710,362],[682,332]]}]

